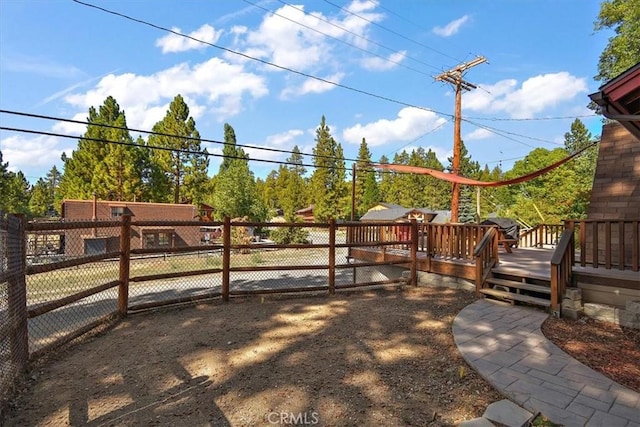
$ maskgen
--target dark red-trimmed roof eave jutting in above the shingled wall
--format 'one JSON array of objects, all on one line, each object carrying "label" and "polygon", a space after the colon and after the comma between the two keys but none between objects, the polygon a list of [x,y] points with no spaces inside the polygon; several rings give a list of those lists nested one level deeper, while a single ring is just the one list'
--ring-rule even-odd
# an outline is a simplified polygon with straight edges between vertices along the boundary
[{"label": "dark red-trimmed roof eave jutting in above the shingled wall", "polygon": [[640,62],[600,86],[589,98],[605,117],[620,122],[640,140]]}]

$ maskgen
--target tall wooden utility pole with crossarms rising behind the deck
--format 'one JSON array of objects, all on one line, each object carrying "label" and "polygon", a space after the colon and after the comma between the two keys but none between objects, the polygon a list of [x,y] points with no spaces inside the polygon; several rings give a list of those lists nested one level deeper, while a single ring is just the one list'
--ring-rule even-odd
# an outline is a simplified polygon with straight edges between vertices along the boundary
[{"label": "tall wooden utility pole with crossarms rising behind the deck", "polygon": [[[476,89],[477,86],[473,83],[469,83],[463,79],[464,73],[476,65],[480,65],[483,62],[487,62],[487,58],[484,56],[478,56],[475,59],[456,65],[449,71],[436,76],[436,80],[440,80],[449,83],[455,87],[456,90],[456,105],[453,117],[453,173],[460,174],[460,119],[462,116],[462,91]],[[460,200],[460,184],[453,183],[452,195],[451,195],[451,222],[458,222]]]}]

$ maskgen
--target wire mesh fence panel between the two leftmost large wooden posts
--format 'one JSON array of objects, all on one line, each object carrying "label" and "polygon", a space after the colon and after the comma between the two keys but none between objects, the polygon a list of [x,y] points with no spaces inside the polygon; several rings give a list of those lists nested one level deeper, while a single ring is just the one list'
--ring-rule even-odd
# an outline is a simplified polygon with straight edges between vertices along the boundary
[{"label": "wire mesh fence panel between the two leftmost large wooden posts", "polygon": [[32,355],[116,313],[120,227],[118,222],[29,224],[26,291]]}]

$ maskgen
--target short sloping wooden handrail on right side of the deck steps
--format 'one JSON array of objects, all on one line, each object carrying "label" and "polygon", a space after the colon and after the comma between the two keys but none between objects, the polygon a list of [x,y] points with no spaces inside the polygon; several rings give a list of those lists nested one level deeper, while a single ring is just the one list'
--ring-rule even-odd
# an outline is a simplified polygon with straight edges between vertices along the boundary
[{"label": "short sloping wooden handrail on right side of the deck steps", "polygon": [[551,310],[557,317],[561,316],[565,289],[571,285],[574,248],[574,232],[568,228],[562,233],[551,257]]}]

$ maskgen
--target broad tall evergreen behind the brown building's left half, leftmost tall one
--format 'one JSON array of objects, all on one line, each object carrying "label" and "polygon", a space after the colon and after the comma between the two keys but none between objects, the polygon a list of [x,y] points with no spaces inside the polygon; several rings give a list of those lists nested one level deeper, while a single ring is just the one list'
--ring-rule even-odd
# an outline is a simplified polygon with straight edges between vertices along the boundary
[{"label": "broad tall evergreen behind the brown building's left half, leftmost tall one", "polygon": [[131,145],[124,111],[109,96],[98,110],[89,109],[87,122],[87,131],[76,150],[71,157],[63,156],[61,198],[89,199],[94,193],[109,200],[139,197],[141,173],[136,168],[139,152]]}]

